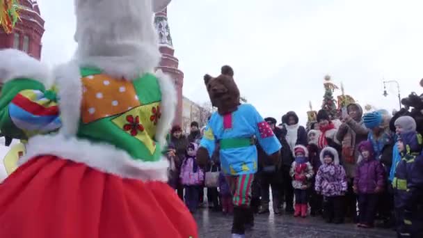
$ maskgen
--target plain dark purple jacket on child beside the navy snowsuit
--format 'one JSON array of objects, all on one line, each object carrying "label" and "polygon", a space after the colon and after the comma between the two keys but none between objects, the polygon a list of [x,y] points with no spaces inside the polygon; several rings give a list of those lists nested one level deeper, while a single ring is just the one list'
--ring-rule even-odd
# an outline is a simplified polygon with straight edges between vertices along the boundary
[{"label": "plain dark purple jacket on child beside the navy snowsuit", "polygon": [[368,160],[358,159],[354,187],[358,193],[376,193],[376,188],[383,188],[385,185],[385,170],[380,161],[370,158]]}]

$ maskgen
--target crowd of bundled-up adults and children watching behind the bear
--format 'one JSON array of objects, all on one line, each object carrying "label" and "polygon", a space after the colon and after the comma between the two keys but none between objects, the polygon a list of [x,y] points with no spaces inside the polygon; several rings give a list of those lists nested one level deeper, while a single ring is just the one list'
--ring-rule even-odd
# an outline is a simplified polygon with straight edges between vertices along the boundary
[{"label": "crowd of bundled-up adults and children watching behind the bear", "polygon": [[[346,109],[348,114],[335,120],[322,109],[307,128],[299,125],[294,111],[282,116],[280,124],[275,118],[264,119],[282,148],[275,164],[255,143],[258,165],[251,207],[256,214],[322,216],[328,223],[378,225],[397,230],[399,237],[417,237],[423,216],[423,143],[414,118],[400,113],[392,117],[385,110],[363,115],[356,103]],[[181,127],[173,127],[169,184],[195,212],[205,204],[205,184],[210,184],[206,174],[214,173],[216,182],[207,187],[208,206],[231,214],[233,199],[219,172],[218,146],[207,166],[195,161],[201,138],[198,122],[191,123],[187,136]]]}]

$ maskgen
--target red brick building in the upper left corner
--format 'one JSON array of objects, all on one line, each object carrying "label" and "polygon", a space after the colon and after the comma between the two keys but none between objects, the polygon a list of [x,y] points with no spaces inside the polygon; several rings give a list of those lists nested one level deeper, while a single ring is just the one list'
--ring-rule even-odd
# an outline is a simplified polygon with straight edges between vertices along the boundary
[{"label": "red brick building in the upper left corner", "polygon": [[44,33],[44,20],[35,0],[20,0],[21,10],[12,33],[0,29],[0,49],[15,48],[27,52],[34,58],[41,58],[41,38]]}]

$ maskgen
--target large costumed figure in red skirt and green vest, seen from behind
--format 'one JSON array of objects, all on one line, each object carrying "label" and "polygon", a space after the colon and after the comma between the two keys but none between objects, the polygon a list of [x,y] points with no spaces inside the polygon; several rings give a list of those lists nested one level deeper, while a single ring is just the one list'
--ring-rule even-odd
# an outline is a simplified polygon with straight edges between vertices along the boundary
[{"label": "large costumed figure in red skirt and green vest, seen from behind", "polygon": [[54,72],[0,51],[0,130],[29,138],[0,186],[0,237],[198,237],[162,155],[177,97],[154,73],[152,20],[167,3],[75,0],[77,52]]}]

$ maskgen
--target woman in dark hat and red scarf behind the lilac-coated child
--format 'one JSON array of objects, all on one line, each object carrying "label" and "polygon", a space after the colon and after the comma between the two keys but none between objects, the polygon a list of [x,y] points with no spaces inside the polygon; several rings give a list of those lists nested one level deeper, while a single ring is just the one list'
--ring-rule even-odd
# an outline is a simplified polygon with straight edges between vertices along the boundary
[{"label": "woman in dark hat and red scarf behind the lilac-coated child", "polygon": [[317,141],[317,146],[319,146],[319,149],[322,150],[326,146],[330,146],[335,148],[338,151],[338,154],[340,154],[341,145],[336,138],[338,129],[335,125],[335,122],[330,120],[329,114],[326,110],[321,109],[317,113],[317,122],[319,122],[319,130],[321,132]]}]

